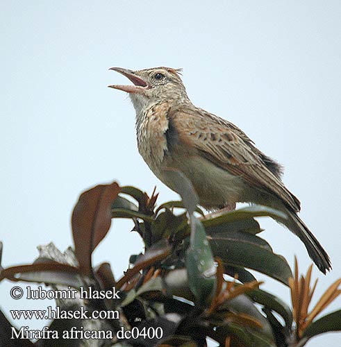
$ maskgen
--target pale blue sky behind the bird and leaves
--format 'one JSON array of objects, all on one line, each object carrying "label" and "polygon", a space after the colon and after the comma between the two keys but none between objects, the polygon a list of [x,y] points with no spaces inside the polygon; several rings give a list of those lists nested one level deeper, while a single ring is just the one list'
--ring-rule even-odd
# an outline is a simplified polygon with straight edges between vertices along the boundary
[{"label": "pale blue sky behind the bird and leaves", "polygon": [[[301,217],[333,262],[326,277],[314,270],[317,299],[341,276],[340,18],[340,1],[331,0],[3,1],[3,265],[31,262],[38,244],[69,246],[72,208],[92,185],[118,180],[147,192],[157,185],[160,202],[176,198],[138,155],[128,97],[106,87],[124,82],[111,66],[164,65],[183,68],[195,105],[233,121],[284,164]],[[290,264],[296,254],[305,271],[310,260],[299,239],[271,220],[260,223],[274,250]],[[94,255],[110,261],[117,278],[142,249],[131,227],[115,221]],[[265,281],[288,301],[287,288]],[[12,286],[0,284],[5,312],[44,308],[11,300]],[[338,307],[340,298],[328,311]],[[328,334],[308,346],[336,341],[340,334]]]}]

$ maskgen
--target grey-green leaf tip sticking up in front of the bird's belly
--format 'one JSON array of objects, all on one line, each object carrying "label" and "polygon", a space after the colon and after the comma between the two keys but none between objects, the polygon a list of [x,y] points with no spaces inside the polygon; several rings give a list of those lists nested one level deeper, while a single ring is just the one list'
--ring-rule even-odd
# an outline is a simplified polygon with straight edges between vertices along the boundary
[{"label": "grey-green leaf tip sticking up in front of the bird's belly", "polygon": [[199,205],[199,198],[191,181],[181,171],[169,169],[166,170],[165,174],[169,180],[175,183],[174,190],[180,194],[183,205],[187,208],[189,214],[192,214]]}]

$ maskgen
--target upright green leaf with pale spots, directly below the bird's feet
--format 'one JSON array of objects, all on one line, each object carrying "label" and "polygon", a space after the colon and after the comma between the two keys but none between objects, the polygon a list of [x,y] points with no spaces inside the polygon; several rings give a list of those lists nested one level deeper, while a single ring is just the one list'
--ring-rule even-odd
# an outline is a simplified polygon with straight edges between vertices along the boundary
[{"label": "upright green leaf with pale spots, directly below the bird's feet", "polygon": [[186,267],[190,289],[199,305],[208,304],[216,286],[216,268],[203,225],[191,217],[190,246],[186,252]]}]

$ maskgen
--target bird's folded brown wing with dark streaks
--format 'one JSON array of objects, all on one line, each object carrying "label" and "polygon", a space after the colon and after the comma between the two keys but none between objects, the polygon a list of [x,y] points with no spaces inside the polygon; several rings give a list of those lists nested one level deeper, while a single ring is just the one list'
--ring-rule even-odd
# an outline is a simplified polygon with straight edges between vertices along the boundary
[{"label": "bird's folded brown wing with dark streaks", "polygon": [[[179,140],[194,146],[210,162],[242,178],[253,187],[273,194],[298,212],[298,199],[289,192],[261,160],[253,142],[242,130],[215,115],[197,108],[169,112],[179,132]],[[251,146],[250,146],[251,145]]]}]

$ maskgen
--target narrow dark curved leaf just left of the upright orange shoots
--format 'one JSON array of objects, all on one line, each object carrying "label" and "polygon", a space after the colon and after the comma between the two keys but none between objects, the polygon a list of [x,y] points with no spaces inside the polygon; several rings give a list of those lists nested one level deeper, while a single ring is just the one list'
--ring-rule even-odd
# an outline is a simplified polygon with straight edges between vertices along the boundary
[{"label": "narrow dark curved leaf just left of the upright orange shoots", "polygon": [[261,289],[253,289],[251,291],[248,291],[246,295],[249,296],[256,303],[260,303],[260,305],[263,305],[264,307],[267,307],[269,310],[278,313],[280,316],[283,317],[285,325],[288,328],[291,327],[292,311],[286,303],[281,301],[280,298],[277,298],[276,296],[267,293],[267,291]]}]

